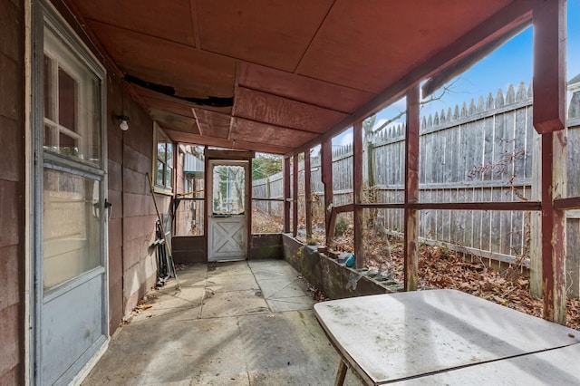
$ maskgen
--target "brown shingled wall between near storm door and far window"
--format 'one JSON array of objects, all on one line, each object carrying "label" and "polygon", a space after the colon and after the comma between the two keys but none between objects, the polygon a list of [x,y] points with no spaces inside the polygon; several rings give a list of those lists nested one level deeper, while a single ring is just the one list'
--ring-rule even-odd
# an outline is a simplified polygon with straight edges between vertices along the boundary
[{"label": "brown shingled wall between near storm door and far window", "polygon": [[[146,174],[151,174],[153,122],[131,100],[129,89],[109,75],[107,116],[109,150],[109,299],[111,333],[123,316],[155,285],[157,214]],[[131,118],[130,129],[121,131],[112,117],[122,112]],[[169,212],[169,197],[157,195],[161,213]]]}]

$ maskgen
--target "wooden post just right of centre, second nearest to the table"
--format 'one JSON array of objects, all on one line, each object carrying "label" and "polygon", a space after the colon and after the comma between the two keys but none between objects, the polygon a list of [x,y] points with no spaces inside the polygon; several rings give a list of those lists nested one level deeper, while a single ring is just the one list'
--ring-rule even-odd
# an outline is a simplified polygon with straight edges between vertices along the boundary
[{"label": "wooden post just right of centre, second nearest to the table", "polygon": [[409,207],[419,201],[419,85],[407,92],[407,130],[405,132],[405,291],[419,285],[419,211]]}]

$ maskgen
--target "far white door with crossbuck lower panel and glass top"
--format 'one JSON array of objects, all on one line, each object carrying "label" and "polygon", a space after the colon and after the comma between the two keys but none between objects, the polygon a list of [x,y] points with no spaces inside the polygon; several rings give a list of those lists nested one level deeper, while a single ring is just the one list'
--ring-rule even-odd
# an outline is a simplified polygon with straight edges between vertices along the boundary
[{"label": "far white door with crossbuck lower panel and glass top", "polygon": [[247,258],[247,160],[209,160],[208,261]]}]

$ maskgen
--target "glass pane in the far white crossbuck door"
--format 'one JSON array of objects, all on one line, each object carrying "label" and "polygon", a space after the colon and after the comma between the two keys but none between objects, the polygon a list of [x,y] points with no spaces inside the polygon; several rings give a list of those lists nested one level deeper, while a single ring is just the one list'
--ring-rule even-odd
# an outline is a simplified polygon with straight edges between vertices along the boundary
[{"label": "glass pane in the far white crossbuck door", "polygon": [[246,169],[216,165],[213,169],[213,213],[239,215],[246,210]]}]

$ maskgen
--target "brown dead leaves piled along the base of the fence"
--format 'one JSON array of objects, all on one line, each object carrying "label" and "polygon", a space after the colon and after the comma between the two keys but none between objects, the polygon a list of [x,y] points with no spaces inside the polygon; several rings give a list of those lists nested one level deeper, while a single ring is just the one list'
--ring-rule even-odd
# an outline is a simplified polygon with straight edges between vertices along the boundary
[{"label": "brown dead leaves piled along the base of the fence", "polygon": [[[403,246],[389,242],[387,236],[365,232],[364,256],[367,267],[387,272],[403,281]],[[337,250],[353,250],[352,232],[336,240]],[[505,265],[504,265],[505,266]],[[463,256],[445,246],[420,246],[419,278],[421,288],[450,288],[473,294],[526,314],[542,316],[542,300],[529,293],[526,269],[509,266],[502,272],[490,268],[476,256]],[[580,300],[567,299],[566,325],[580,330]]]}]

